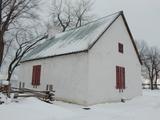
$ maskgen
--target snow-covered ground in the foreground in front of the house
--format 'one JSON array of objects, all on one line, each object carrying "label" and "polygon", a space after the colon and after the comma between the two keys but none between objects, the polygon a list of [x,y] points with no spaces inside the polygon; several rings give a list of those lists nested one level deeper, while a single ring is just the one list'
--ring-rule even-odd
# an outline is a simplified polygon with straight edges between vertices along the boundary
[{"label": "snow-covered ground in the foreground in front of the house", "polygon": [[125,103],[105,103],[84,106],[55,101],[54,104],[36,98],[0,105],[0,120],[151,120],[159,119],[160,90],[143,91],[143,96]]}]

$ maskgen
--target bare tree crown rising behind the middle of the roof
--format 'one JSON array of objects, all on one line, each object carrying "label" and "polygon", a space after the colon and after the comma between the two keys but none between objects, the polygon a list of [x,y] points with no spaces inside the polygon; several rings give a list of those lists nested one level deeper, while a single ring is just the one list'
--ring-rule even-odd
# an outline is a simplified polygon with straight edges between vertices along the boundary
[{"label": "bare tree crown rising behind the middle of the roof", "polygon": [[52,15],[55,26],[61,28],[61,31],[66,31],[67,28],[80,27],[84,23],[92,19],[90,13],[93,2],[90,0],[78,0],[73,2],[57,3],[54,0]]}]

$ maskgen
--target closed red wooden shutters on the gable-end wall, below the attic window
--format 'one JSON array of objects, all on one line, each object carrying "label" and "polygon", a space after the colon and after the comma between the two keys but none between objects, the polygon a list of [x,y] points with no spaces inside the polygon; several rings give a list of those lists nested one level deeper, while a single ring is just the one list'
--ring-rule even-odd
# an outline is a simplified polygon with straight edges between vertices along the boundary
[{"label": "closed red wooden shutters on the gable-end wall, below the attic window", "polygon": [[125,68],[116,66],[116,89],[125,89]]}]

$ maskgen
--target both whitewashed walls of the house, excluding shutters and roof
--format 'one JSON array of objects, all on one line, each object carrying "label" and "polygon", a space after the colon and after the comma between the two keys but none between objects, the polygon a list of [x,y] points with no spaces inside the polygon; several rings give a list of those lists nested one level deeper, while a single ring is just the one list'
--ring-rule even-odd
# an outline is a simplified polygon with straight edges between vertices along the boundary
[{"label": "both whitewashed walls of the house, excluding shutters and roof", "polygon": [[[118,43],[124,53],[118,52]],[[33,88],[32,67],[41,65],[41,84]],[[126,89],[116,89],[116,66],[126,69]],[[20,81],[27,88],[44,90],[53,84],[57,100],[92,105],[139,96],[141,64],[122,16],[119,16],[89,50],[80,53],[23,62]]]}]

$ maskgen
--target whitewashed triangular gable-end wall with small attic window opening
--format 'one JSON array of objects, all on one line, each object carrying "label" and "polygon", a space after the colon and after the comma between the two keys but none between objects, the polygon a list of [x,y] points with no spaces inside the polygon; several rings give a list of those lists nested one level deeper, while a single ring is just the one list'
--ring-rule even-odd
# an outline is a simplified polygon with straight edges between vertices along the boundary
[{"label": "whitewashed triangular gable-end wall with small attic window opening", "polygon": [[[118,52],[118,42],[124,53]],[[116,65],[126,69],[126,89],[116,89]],[[120,101],[142,94],[141,65],[120,16],[89,51],[88,104]]]}]

